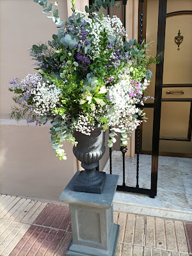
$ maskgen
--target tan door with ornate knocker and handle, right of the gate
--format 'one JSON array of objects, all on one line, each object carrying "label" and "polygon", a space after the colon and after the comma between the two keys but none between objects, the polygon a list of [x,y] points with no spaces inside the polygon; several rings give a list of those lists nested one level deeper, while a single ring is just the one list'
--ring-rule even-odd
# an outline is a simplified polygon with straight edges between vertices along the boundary
[{"label": "tan door with ornate knocker and handle, right of the gate", "polygon": [[[160,152],[192,154],[192,15],[177,15],[166,19],[163,92],[161,105]],[[178,45],[175,36],[184,36]],[[168,87],[170,84],[170,87]],[[184,87],[184,86],[188,87]],[[166,101],[164,101],[166,100]]]}]

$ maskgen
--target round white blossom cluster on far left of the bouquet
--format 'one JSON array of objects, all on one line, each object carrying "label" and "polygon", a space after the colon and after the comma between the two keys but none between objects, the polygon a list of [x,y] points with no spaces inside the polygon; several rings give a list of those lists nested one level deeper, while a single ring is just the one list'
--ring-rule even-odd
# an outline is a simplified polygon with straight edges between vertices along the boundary
[{"label": "round white blossom cluster on far left of the bouquet", "polygon": [[42,84],[39,82],[33,91],[33,95],[33,102],[35,103],[33,111],[36,115],[41,116],[56,108],[56,104],[60,100],[61,90],[54,84],[50,84],[49,81]]}]

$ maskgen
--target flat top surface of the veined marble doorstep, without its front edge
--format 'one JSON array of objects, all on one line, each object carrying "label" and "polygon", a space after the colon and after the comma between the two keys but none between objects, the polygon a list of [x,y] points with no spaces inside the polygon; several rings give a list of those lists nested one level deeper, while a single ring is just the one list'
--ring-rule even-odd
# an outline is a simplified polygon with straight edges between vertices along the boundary
[{"label": "flat top surface of the veined marble doorstep, without its front edge", "polygon": [[[140,155],[140,188],[150,189],[151,158],[149,155]],[[113,174],[119,175],[118,184],[122,185],[123,168],[121,152],[114,151],[112,154],[112,171]],[[109,173],[109,166],[106,168],[106,172]],[[125,182],[127,186],[136,186],[136,157],[125,157]],[[156,198],[149,198],[148,195],[135,193],[116,193],[115,202],[192,213],[191,184],[192,159],[159,156]]]}]

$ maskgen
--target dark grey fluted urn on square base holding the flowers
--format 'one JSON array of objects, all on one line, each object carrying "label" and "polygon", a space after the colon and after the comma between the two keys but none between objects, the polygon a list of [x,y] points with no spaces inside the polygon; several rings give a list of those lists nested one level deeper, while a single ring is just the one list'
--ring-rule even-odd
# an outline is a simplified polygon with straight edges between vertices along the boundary
[{"label": "dark grey fluted urn on square base holding the flowers", "polygon": [[74,191],[101,194],[106,173],[99,172],[95,168],[99,166],[99,160],[106,151],[105,132],[102,132],[102,127],[96,127],[90,136],[74,132],[74,137],[78,143],[73,148],[73,152],[84,168],[74,183]]}]

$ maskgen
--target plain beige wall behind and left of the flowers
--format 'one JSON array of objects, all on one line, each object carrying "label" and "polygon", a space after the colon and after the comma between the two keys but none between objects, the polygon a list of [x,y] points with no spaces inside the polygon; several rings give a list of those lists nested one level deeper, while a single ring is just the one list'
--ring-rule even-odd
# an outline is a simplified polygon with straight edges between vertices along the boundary
[{"label": "plain beige wall behind and left of the flowers", "polygon": [[[60,17],[66,20],[67,1],[58,3]],[[67,161],[60,161],[49,143],[49,125],[28,126],[24,120],[17,124],[8,116],[13,105],[8,81],[34,72],[28,47],[57,33],[42,10],[33,0],[0,0],[0,193],[58,200],[77,170],[72,145],[65,143]]]}]

